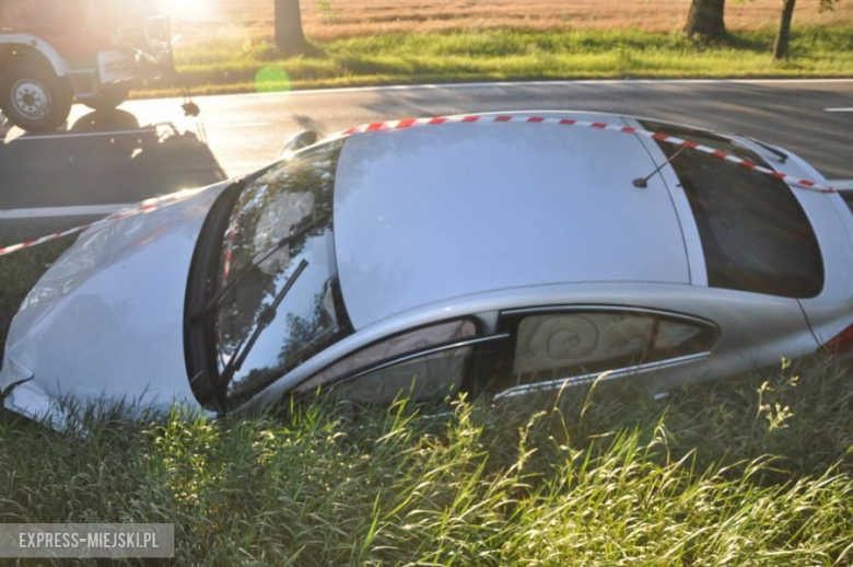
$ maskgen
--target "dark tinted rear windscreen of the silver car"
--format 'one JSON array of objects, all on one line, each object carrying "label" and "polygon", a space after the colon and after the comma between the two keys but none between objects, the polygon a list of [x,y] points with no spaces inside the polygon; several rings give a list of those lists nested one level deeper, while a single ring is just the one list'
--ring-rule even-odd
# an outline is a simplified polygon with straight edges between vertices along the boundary
[{"label": "dark tinted rear windscreen of the silver car", "polygon": [[[758,154],[725,138],[653,121],[641,124],[769,167]],[[671,160],[690,201],[711,287],[787,298],[820,293],[820,247],[791,187],[700,151],[679,151],[664,141],[657,144]]]}]

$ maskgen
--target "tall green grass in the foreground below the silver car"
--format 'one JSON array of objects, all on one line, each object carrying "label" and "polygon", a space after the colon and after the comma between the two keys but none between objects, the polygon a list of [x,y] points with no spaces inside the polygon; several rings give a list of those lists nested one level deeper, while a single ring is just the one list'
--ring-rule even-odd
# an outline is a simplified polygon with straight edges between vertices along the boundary
[{"label": "tall green grass in the foreground below the silver car", "polygon": [[9,419],[0,521],[174,522],[180,565],[849,565],[850,374],[797,375],[437,418]]}]

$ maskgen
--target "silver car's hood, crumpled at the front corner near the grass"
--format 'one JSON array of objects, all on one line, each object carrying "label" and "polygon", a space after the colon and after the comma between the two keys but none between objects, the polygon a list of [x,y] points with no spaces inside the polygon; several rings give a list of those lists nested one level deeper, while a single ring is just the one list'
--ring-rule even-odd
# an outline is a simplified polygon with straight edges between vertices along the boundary
[{"label": "silver car's hood, crumpled at the front corner near the grass", "polygon": [[12,322],[0,391],[27,381],[5,400],[9,409],[61,420],[69,398],[198,405],[184,358],[184,301],[201,225],[226,186],[81,235]]}]

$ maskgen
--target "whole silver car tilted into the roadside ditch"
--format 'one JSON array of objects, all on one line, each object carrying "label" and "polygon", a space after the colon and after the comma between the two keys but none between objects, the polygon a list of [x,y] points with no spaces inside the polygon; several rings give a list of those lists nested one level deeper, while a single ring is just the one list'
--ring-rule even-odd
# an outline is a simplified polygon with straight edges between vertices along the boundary
[{"label": "whole silver car tilted into the roadside ditch", "polygon": [[787,185],[826,182],[802,159],[629,116],[535,115],[620,132],[503,116],[336,137],[84,233],[13,322],[5,406],[221,414],[603,372],[667,391],[853,351],[851,199]]}]

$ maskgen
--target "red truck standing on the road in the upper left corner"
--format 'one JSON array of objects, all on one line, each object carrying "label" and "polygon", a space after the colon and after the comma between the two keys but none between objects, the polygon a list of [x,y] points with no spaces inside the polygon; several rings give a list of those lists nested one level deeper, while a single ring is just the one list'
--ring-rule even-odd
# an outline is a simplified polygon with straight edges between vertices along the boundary
[{"label": "red truck standing on the road in the upper left corner", "polygon": [[0,0],[0,111],[38,132],[75,99],[113,109],[133,81],[174,73],[172,44],[154,0]]}]

